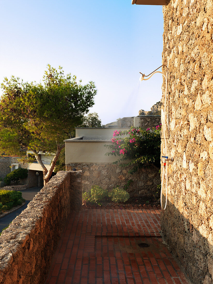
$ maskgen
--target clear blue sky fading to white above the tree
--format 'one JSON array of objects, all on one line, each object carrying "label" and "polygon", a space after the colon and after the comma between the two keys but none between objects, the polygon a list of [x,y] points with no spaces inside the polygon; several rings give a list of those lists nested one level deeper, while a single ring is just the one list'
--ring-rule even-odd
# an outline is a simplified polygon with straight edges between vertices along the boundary
[{"label": "clear blue sky fading to white above the tree", "polygon": [[0,82],[11,75],[42,80],[47,64],[94,81],[90,112],[104,124],[137,116],[162,97],[162,76],[138,85],[162,62],[162,6],[131,0],[0,2]]}]

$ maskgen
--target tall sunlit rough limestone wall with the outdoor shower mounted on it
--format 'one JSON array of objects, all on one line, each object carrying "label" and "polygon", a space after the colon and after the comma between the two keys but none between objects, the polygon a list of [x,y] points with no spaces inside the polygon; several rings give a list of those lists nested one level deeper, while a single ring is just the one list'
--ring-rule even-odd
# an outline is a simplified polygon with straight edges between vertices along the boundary
[{"label": "tall sunlit rough limestone wall with the outdoor shower mounted on it", "polygon": [[[163,14],[168,152],[175,161],[168,168],[162,235],[192,283],[207,284],[213,279],[213,1],[171,0]],[[161,150],[165,154],[164,141]]]}]

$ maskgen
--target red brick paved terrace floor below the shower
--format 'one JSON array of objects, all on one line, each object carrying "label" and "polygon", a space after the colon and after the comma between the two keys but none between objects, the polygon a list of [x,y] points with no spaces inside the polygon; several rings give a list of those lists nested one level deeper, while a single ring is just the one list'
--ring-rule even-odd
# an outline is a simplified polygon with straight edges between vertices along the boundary
[{"label": "red brick paved terrace floor below the shower", "polygon": [[189,283],[162,243],[159,215],[158,209],[70,214],[46,284]]}]

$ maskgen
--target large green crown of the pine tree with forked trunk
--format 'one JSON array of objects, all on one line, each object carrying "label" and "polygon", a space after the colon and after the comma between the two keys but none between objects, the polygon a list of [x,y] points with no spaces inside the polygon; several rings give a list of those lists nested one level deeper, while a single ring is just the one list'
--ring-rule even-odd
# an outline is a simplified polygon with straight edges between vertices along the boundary
[{"label": "large green crown of the pine tree with forked trunk", "polygon": [[39,151],[57,153],[54,162],[64,147],[64,139],[94,105],[97,92],[93,82],[82,85],[76,76],[64,75],[62,67],[56,70],[50,65],[43,83],[24,82],[12,76],[10,80],[5,77],[1,87],[1,153],[20,155],[20,150],[31,150],[37,159]]}]

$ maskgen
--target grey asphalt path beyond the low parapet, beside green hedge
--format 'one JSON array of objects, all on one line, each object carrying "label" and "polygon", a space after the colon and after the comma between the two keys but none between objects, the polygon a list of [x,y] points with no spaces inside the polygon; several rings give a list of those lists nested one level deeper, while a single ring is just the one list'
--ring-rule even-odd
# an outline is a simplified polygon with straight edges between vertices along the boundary
[{"label": "grey asphalt path beyond the low parapet, beside green hedge", "polygon": [[0,233],[1,231],[7,227],[13,219],[16,218],[25,208],[27,208],[28,203],[33,200],[35,195],[42,189],[43,186],[40,187],[31,187],[28,189],[22,190],[22,197],[26,200],[26,204],[16,211],[7,214],[5,217],[0,218]]}]

